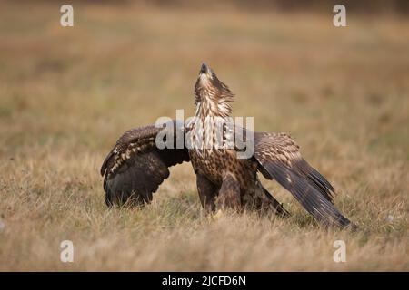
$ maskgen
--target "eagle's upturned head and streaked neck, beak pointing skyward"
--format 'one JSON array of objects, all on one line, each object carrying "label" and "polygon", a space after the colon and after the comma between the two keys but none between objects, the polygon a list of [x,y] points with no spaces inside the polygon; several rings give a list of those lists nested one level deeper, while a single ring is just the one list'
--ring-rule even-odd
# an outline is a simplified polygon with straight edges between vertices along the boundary
[{"label": "eagle's upturned head and streaked neck, beak pointing skyward", "polygon": [[195,83],[196,115],[228,117],[232,112],[230,102],[234,94],[224,82],[221,82],[214,71],[203,63]]}]

